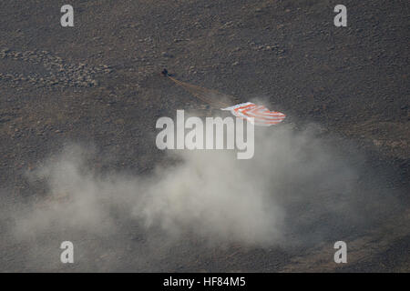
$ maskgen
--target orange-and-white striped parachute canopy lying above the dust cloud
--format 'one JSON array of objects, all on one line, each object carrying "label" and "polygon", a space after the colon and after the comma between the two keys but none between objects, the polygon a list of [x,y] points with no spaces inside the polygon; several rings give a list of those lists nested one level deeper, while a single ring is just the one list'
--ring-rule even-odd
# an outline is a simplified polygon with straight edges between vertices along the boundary
[{"label": "orange-and-white striped parachute canopy lying above the dust cloud", "polygon": [[[280,112],[269,111],[264,105],[256,105],[251,102],[221,108],[221,110],[231,111],[232,115],[241,117],[254,125],[260,126],[279,124],[286,117],[286,115]],[[251,118],[253,118],[253,120]]]}]

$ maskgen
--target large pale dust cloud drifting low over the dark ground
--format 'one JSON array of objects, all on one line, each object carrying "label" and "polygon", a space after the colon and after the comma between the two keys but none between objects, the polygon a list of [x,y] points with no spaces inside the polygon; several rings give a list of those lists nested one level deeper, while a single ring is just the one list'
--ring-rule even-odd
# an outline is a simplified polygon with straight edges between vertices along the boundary
[{"label": "large pale dust cloud drifting low over the dark ground", "polygon": [[[98,172],[93,151],[69,146],[29,176],[45,183],[45,195],[33,193],[34,202],[17,206],[4,201],[2,245],[38,250],[47,239],[69,236],[97,237],[96,248],[98,239],[112,238],[122,249],[137,237],[144,241],[142,267],[154,248],[158,254],[159,246],[192,237],[210,247],[286,247],[343,236],[368,223],[374,203],[362,202],[377,194],[358,183],[360,159],[319,135],[314,126],[256,128],[250,160],[234,151],[175,151],[169,156],[176,162],[149,176]],[[118,252],[108,270],[122,266]]]}]

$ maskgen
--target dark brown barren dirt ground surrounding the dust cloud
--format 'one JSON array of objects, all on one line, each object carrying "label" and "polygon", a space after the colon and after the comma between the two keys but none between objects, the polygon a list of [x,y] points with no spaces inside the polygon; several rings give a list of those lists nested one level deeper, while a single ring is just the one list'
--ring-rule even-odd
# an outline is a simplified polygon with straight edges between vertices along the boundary
[{"label": "dark brown barren dirt ground surrounding the dust cloud", "polygon": [[[102,171],[149,175],[167,165],[155,146],[156,120],[203,105],[159,74],[167,67],[180,80],[238,101],[263,96],[287,114],[286,123],[314,123],[323,135],[338,136],[340,146],[354,145],[372,169],[366,183],[400,207],[345,236],[348,264],[333,262],[330,240],[288,250],[208,247],[195,238],[158,246],[159,256],[141,264],[134,260],[138,227],[127,222],[119,223],[126,242],[119,246],[77,234],[95,253],[74,266],[45,265],[41,257],[49,254],[42,251],[38,262],[26,260],[30,243],[4,235],[0,271],[410,271],[408,1],[345,0],[347,27],[333,25],[339,3],[330,0],[72,0],[74,27],[60,25],[64,4],[0,4],[3,206],[44,193],[27,181],[27,171],[70,143],[96,146],[91,166]],[[56,245],[51,253],[59,251]]]}]

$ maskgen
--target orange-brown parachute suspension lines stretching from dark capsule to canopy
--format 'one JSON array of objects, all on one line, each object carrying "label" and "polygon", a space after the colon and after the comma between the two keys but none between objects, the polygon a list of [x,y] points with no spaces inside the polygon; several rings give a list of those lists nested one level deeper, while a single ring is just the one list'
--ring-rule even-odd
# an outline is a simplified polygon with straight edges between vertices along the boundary
[{"label": "orange-brown parachute suspension lines stretching from dark capsule to canopy", "polygon": [[213,96],[214,98],[228,98],[232,99],[234,98],[231,95],[225,95],[221,94],[220,92],[216,90],[211,90],[207,88],[200,87],[199,85],[191,85],[189,83],[181,82],[170,75],[168,75],[169,79],[172,80],[175,84],[183,87],[185,90],[190,92],[190,94],[196,96],[198,99],[202,100],[205,103],[208,103],[209,105],[213,106],[218,106],[218,107],[226,107],[229,106],[228,104],[220,101],[220,100],[212,100],[210,99],[210,96]]}]

